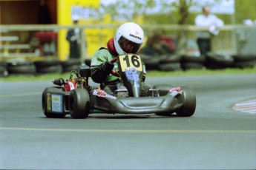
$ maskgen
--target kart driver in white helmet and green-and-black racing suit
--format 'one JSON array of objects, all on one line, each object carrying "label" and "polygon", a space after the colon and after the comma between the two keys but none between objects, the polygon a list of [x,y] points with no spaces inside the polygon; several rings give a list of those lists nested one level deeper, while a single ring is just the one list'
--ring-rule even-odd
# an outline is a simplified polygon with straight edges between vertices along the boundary
[{"label": "kart driver in white helmet and green-and-black racing suit", "polygon": [[[113,94],[113,90],[109,91],[108,85],[118,85],[120,79],[111,75],[111,69],[117,68],[117,64],[111,64],[111,60],[117,55],[126,53],[137,53],[144,41],[144,32],[142,28],[134,22],[126,22],[117,30],[114,38],[109,39],[107,48],[101,47],[93,54],[91,58],[91,78],[94,82],[101,84],[102,89]],[[149,89],[145,84],[145,64],[143,64],[142,89]],[[118,89],[125,88],[117,86]],[[145,91],[144,91],[145,92]],[[143,92],[142,92],[143,93]],[[143,94],[142,94],[143,95]]]}]

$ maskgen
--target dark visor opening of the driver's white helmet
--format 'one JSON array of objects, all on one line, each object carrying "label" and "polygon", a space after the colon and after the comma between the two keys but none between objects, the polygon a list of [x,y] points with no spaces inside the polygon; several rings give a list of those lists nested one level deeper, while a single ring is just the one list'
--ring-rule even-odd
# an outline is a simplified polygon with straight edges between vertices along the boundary
[{"label": "dark visor opening of the driver's white helmet", "polygon": [[118,44],[125,53],[137,53],[142,45],[129,41],[123,36],[119,38]]}]

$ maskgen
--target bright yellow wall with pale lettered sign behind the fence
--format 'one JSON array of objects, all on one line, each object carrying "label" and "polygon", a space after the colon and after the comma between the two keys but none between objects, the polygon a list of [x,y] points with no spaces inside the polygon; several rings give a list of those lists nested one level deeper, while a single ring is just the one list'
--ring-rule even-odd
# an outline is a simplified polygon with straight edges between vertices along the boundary
[{"label": "bright yellow wall with pale lettered sign behind the fence", "polygon": [[[104,0],[102,0],[104,1]],[[113,38],[116,28],[86,28],[87,24],[119,24],[125,21],[113,21],[109,14],[105,14],[103,20],[99,20],[100,0],[57,0],[57,21],[59,25],[73,25],[72,17],[79,18],[79,25],[85,26],[84,35],[85,46],[82,51],[85,56],[82,59],[91,57],[99,47],[107,47],[108,40]],[[138,24],[142,24],[142,17],[134,20]],[[58,34],[58,57],[65,61],[69,58],[69,44],[66,40],[68,30],[59,30]]]}]

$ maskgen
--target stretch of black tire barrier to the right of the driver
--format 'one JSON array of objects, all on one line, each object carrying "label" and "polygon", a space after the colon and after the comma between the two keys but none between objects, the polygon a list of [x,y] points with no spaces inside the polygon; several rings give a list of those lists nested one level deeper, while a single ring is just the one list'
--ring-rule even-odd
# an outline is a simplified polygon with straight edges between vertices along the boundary
[{"label": "stretch of black tire barrier to the right of the driver", "polygon": [[214,52],[208,52],[206,55],[200,56],[169,54],[159,57],[150,55],[144,57],[143,55],[142,61],[145,63],[147,70],[160,71],[246,68],[255,67],[256,55],[221,55]]}]

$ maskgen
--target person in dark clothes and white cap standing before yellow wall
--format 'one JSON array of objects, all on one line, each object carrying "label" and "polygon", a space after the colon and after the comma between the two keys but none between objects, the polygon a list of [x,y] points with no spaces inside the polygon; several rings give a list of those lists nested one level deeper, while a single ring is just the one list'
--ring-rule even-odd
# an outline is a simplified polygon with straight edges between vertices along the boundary
[{"label": "person in dark clothes and white cap standing before yellow wall", "polygon": [[[73,25],[79,23],[79,16],[72,16]],[[66,39],[70,45],[69,58],[80,58],[81,57],[81,30],[79,27],[68,30]]]}]

